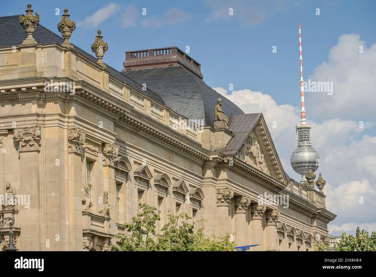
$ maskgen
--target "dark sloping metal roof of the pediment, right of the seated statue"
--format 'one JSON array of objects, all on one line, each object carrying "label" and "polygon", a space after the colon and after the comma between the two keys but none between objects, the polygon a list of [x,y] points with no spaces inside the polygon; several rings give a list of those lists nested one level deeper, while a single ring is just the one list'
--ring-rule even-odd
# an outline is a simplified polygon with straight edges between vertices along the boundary
[{"label": "dark sloping metal roof of the pediment, right of the seated statue", "polygon": [[235,136],[227,143],[221,152],[225,155],[234,155],[255,127],[262,113],[233,115],[230,120],[230,129]]}]

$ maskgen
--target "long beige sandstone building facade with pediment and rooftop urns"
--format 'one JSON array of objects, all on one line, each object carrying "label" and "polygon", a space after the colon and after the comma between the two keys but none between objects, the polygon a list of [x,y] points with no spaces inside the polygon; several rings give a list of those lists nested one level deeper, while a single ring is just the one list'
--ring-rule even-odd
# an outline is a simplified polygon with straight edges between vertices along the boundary
[{"label": "long beige sandstone building facade with pediment and rooftop urns", "polygon": [[[207,234],[258,245],[251,250],[312,251],[315,237],[324,241],[335,214],[312,178],[304,185],[285,174],[262,114],[231,115],[222,98],[228,124],[222,112],[187,124],[163,96],[102,62],[100,31],[98,60],[72,45],[67,12],[64,39],[39,15],[27,26],[22,15],[21,24],[19,15],[0,18],[0,194],[17,198],[0,216],[14,216],[18,249],[108,251],[140,202],[157,207],[157,232],[179,208],[194,223],[207,219]],[[210,105],[214,121],[217,100]],[[261,204],[265,193],[288,205]],[[0,240],[4,249],[9,226]]]}]

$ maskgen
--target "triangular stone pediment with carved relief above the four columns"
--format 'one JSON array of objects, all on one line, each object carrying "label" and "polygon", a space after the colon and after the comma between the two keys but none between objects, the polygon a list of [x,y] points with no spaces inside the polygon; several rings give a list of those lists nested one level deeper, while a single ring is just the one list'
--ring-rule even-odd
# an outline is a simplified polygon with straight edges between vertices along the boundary
[{"label": "triangular stone pediment with carved relief above the four columns", "polygon": [[246,130],[248,132],[246,136],[241,127],[235,132],[235,135],[238,133],[239,138],[241,137],[241,141],[237,142],[237,148],[235,148],[235,158],[287,185],[288,182],[264,116],[259,116],[256,121],[253,119],[253,124],[250,126],[251,129]]}]

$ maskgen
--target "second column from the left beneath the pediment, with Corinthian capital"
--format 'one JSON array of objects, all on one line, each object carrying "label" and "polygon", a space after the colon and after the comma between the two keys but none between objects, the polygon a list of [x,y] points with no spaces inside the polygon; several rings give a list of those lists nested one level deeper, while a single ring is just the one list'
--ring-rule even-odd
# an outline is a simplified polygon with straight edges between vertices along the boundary
[{"label": "second column from the left beneath the pediment, with Corinthian capital", "polygon": [[235,231],[237,246],[244,246],[248,244],[247,235],[247,213],[248,207],[251,204],[251,199],[248,196],[235,196]]}]

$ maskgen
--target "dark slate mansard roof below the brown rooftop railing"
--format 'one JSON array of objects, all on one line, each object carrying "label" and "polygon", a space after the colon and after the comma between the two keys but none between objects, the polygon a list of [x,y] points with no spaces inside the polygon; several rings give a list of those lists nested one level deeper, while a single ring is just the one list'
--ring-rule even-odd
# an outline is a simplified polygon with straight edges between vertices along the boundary
[{"label": "dark slate mansard roof below the brown rooftop railing", "polygon": [[188,119],[204,120],[204,125],[214,125],[214,109],[217,99],[222,99],[222,109],[230,118],[244,112],[220,93],[209,87],[200,78],[180,66],[152,69],[127,70],[125,76],[145,83],[161,95],[166,105]]}]

